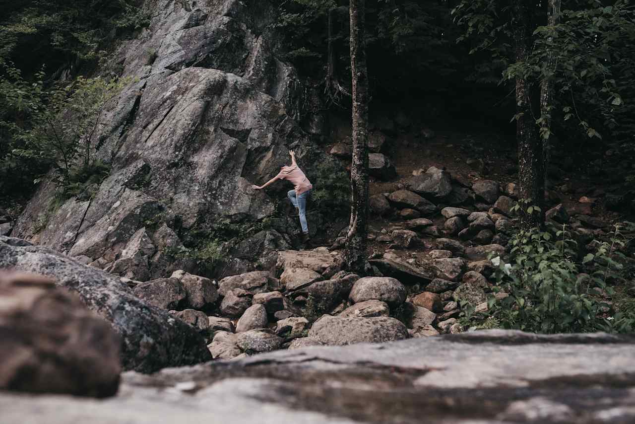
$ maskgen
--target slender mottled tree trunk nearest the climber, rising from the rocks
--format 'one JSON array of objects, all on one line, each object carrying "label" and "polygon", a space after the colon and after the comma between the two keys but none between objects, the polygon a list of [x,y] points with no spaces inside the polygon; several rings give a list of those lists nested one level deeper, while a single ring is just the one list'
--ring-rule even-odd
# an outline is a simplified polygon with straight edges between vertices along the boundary
[{"label": "slender mottled tree trunk nearest the climber, rising from the rocks", "polygon": [[347,270],[364,273],[368,221],[368,75],[364,0],[351,0],[352,139],[351,222],[342,257]]}]

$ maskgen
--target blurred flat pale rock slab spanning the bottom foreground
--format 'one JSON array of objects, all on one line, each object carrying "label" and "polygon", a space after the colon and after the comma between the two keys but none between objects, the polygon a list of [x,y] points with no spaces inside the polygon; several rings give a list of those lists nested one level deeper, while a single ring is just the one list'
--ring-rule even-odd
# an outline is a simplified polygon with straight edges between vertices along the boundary
[{"label": "blurred flat pale rock slab spanning the bottom foreground", "polygon": [[632,338],[478,331],[125,373],[106,402],[2,393],[0,421],[632,423],[634,373]]}]

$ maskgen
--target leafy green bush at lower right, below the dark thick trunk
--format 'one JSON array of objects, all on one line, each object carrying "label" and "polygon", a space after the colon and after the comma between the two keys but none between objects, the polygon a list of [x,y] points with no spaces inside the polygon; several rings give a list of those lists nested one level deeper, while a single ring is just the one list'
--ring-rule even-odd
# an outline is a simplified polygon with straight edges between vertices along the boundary
[{"label": "leafy green bush at lower right, below the dark thick trunk", "polygon": [[615,294],[608,277],[622,270],[615,261],[619,240],[616,229],[610,242],[597,242],[596,252],[578,261],[577,243],[565,226],[519,231],[509,242],[510,263],[491,258],[497,270],[488,310],[466,308],[462,324],[540,333],[632,331],[635,310],[607,316],[611,308],[604,300]]}]

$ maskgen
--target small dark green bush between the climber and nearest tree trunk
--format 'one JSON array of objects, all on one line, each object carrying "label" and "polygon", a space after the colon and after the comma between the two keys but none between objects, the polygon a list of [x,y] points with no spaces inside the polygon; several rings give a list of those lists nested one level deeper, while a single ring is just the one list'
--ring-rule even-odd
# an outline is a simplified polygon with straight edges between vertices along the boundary
[{"label": "small dark green bush between the climber and nearest tree trunk", "polygon": [[351,183],[344,169],[335,161],[322,161],[312,169],[309,179],[313,182],[311,191],[314,209],[349,209]]}]

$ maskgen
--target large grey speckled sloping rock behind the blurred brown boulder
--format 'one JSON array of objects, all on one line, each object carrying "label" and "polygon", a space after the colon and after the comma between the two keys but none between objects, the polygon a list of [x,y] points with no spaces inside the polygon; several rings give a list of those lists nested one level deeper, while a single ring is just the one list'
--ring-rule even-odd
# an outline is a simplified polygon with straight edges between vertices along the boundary
[{"label": "large grey speckled sloping rock behind the blurred brown boulder", "polygon": [[123,338],[126,369],[151,373],[163,367],[210,360],[204,339],[168,311],[144,303],[119,278],[65,257],[46,247],[0,236],[0,269],[15,268],[46,275],[77,292]]}]

